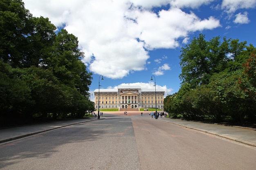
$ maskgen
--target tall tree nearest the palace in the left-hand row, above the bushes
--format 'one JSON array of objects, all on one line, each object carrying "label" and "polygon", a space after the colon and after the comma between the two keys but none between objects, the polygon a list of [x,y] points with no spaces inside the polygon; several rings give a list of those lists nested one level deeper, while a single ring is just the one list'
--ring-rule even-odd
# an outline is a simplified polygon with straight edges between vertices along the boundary
[{"label": "tall tree nearest the palace in the left-hand row, above the bushes", "polygon": [[53,71],[61,83],[70,87],[83,88],[83,93],[90,86],[91,73],[81,62],[84,54],[78,48],[77,38],[62,29],[54,42],[54,53],[47,58],[47,68]]}]

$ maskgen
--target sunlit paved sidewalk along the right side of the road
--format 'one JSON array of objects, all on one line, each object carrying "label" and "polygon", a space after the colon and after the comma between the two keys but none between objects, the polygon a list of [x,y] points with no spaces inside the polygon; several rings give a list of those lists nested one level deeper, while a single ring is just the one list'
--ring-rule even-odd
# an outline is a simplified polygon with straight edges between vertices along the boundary
[{"label": "sunlit paved sidewalk along the right side of the road", "polygon": [[240,142],[242,144],[256,147],[256,129],[253,128],[244,128],[240,126],[225,126],[220,124],[211,124],[200,121],[189,121],[172,118],[158,118],[156,120],[166,121],[171,124],[176,124],[186,128],[207,132],[226,139]]}]

